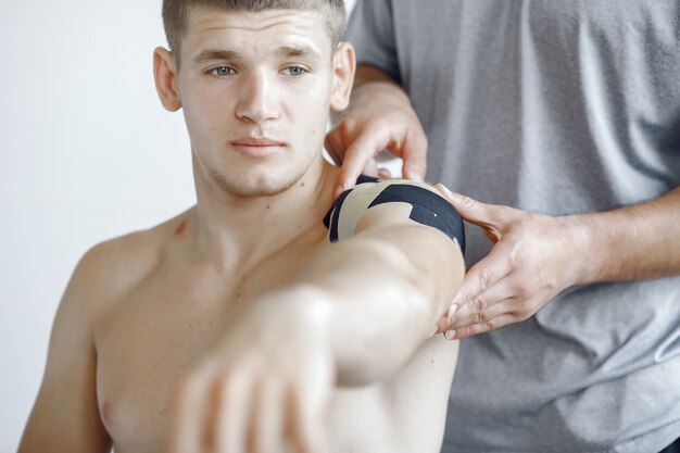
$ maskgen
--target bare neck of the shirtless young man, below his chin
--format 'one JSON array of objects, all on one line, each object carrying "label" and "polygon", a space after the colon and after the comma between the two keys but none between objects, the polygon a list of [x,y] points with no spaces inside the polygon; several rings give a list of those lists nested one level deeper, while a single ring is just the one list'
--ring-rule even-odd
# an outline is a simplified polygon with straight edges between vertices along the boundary
[{"label": "bare neck of the shirtless young man, below his chin", "polygon": [[319,156],[289,189],[264,197],[235,196],[194,175],[190,229],[201,260],[248,268],[318,228],[333,201],[337,172]]}]

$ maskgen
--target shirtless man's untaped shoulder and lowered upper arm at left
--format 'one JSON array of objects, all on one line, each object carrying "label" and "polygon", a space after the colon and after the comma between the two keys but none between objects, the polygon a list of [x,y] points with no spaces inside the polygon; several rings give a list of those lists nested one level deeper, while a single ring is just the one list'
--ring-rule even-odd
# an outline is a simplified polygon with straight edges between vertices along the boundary
[{"label": "shirtless man's untaped shoulder and lowered upper arm at left", "polygon": [[182,217],[92,247],[80,259],[59,305],[45,376],[20,452],[109,452],[97,400],[96,331],[106,307],[159,265]]}]

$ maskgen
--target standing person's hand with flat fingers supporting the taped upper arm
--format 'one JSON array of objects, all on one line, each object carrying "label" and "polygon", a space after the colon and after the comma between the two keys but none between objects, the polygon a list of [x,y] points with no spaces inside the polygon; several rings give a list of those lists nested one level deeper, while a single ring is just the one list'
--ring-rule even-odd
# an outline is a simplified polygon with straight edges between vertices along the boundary
[{"label": "standing person's hand with flat fingers supporting the taped upper arm", "polygon": [[461,339],[525,320],[578,284],[588,238],[576,217],[483,204],[438,187],[464,219],[494,242],[465,275],[438,332]]}]

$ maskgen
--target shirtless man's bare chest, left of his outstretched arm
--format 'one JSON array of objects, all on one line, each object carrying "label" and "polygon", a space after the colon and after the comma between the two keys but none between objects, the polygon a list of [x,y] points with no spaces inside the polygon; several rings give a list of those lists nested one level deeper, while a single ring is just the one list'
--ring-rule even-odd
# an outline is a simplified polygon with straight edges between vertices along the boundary
[{"label": "shirtless man's bare chest, left of his outstretched arm", "polygon": [[179,379],[241,304],[290,281],[303,264],[272,260],[239,276],[159,269],[112,304],[95,329],[97,395],[117,453],[165,450]]}]

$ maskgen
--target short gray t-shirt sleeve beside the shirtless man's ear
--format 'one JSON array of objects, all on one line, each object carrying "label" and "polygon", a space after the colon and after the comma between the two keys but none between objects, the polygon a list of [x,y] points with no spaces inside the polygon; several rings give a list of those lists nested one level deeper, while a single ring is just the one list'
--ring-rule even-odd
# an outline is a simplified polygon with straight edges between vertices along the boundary
[{"label": "short gray t-shirt sleeve beside the shirtless man's ear", "polygon": [[354,46],[357,63],[377,66],[400,81],[391,0],[357,0],[344,39]]}]

